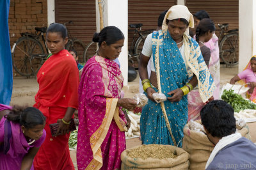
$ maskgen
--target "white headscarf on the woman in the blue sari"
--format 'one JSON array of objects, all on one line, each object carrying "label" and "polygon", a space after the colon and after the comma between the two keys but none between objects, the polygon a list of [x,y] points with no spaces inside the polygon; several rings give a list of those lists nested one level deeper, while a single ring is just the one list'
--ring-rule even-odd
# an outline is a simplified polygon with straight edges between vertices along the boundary
[{"label": "white headscarf on the woman in the blue sari", "polygon": [[[167,31],[168,26],[166,25],[166,19],[186,19],[189,22],[188,27],[194,27],[194,17],[189,12],[188,7],[184,5],[173,5],[168,12],[166,13],[163,21],[162,29],[163,31]],[[188,33],[188,28],[186,29],[186,33]]]}]

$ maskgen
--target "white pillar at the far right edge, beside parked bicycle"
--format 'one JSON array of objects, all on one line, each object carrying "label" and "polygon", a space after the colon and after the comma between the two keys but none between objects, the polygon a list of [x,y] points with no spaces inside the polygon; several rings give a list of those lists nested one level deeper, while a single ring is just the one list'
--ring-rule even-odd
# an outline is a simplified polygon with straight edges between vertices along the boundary
[{"label": "white pillar at the far right edge, beside parked bicycle", "polygon": [[256,55],[256,1],[239,0],[239,72]]}]

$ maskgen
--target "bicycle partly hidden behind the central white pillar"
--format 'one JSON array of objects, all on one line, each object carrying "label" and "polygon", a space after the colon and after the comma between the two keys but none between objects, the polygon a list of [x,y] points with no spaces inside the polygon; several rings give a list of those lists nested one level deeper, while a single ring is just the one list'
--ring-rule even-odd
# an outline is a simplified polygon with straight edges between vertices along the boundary
[{"label": "bicycle partly hidden behind the central white pillar", "polygon": [[[132,64],[134,64],[134,59],[139,62],[140,59],[140,52],[143,48],[143,44],[145,42],[145,39],[147,38],[147,35],[152,33],[154,29],[147,29],[145,31],[141,31],[141,27],[143,24],[130,24],[129,27],[133,29],[129,29],[128,31],[134,31],[134,35],[132,38],[132,44],[128,51],[128,61],[130,61]],[[136,39],[136,35],[138,35],[138,38]],[[135,43],[134,43],[135,42]],[[86,48],[84,50],[84,63],[88,61],[88,59],[92,58],[97,51],[97,43],[90,42],[88,45],[86,45]]]}]

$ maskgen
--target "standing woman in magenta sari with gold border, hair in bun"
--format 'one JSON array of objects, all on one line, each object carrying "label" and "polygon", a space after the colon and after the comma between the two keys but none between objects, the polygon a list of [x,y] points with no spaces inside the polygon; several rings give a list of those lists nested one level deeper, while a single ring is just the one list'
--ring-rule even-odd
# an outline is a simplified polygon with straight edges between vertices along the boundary
[{"label": "standing woman in magenta sari with gold border, hair in bun", "polygon": [[123,77],[113,61],[124,45],[124,35],[115,26],[104,27],[94,34],[93,42],[99,42],[99,50],[84,66],[79,84],[77,166],[120,169],[129,124],[121,107],[136,107],[132,98],[120,98]]}]

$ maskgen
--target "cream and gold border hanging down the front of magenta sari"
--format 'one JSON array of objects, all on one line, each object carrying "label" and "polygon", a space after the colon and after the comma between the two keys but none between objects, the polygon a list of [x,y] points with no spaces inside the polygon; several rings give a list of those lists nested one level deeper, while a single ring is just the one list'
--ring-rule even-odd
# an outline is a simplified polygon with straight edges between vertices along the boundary
[{"label": "cream and gold border hanging down the front of magenta sari", "polygon": [[106,98],[106,113],[100,127],[90,137],[90,145],[93,152],[93,159],[86,169],[100,169],[103,165],[102,152],[100,149],[106,135],[108,134],[109,126],[113,120],[116,110],[118,98]]}]

